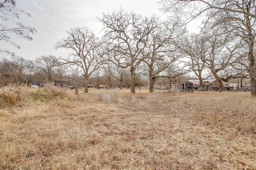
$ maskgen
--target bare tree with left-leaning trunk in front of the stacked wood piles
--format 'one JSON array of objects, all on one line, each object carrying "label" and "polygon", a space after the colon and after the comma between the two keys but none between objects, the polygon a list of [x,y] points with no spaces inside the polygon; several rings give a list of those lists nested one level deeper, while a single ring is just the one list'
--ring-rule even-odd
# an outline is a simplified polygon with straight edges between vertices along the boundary
[{"label": "bare tree with left-leaning trunk in front of the stacked wood piles", "polygon": [[[209,68],[214,78],[218,81],[220,92],[224,91],[222,81],[240,76],[238,72],[232,72],[237,68],[237,63],[244,59],[244,43],[237,38],[231,38],[226,33],[222,33],[220,29],[201,37],[200,47],[203,47],[204,53],[197,53],[197,57]],[[203,39],[203,41],[202,41]],[[240,40],[240,41],[239,41]],[[202,51],[198,48],[198,51]]]}]

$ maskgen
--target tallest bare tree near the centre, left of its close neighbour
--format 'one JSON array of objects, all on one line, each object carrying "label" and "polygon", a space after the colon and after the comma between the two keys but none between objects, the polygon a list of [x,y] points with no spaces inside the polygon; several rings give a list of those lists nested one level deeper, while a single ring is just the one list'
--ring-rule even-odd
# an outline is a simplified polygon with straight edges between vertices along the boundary
[{"label": "tallest bare tree near the centre, left of its close neighbour", "polygon": [[120,68],[130,68],[131,93],[135,93],[136,68],[147,57],[143,55],[149,33],[156,27],[156,17],[142,17],[134,12],[120,10],[102,14],[98,18],[104,25],[108,40],[110,61]]}]

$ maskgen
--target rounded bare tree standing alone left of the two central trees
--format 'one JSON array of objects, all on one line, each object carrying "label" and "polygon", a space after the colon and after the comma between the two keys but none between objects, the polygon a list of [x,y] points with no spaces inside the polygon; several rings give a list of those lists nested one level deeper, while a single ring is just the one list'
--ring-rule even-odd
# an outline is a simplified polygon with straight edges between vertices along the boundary
[{"label": "rounded bare tree standing alone left of the two central trees", "polygon": [[88,78],[95,71],[98,70],[104,59],[102,57],[102,43],[99,38],[86,27],[75,27],[66,31],[67,38],[57,42],[55,49],[66,48],[71,49],[68,59],[62,58],[64,64],[76,64],[82,69],[84,76],[84,93],[88,93]]}]

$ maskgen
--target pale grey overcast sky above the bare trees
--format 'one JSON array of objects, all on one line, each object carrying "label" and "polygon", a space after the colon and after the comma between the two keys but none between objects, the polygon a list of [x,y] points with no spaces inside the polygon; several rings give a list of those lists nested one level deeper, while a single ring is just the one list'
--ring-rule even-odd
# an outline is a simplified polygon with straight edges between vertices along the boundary
[{"label": "pale grey overcast sky above the bare trees", "polygon": [[[0,47],[32,60],[49,54],[68,57],[68,50],[57,51],[54,49],[54,44],[66,38],[65,31],[70,28],[85,26],[99,35],[103,25],[98,22],[96,16],[101,17],[103,12],[108,14],[122,8],[142,16],[151,16],[151,14],[161,16],[159,7],[157,0],[19,0],[17,8],[31,14],[31,17],[22,15],[19,21],[26,26],[34,27],[38,32],[32,35],[33,41],[12,36],[21,49],[1,41]],[[164,16],[162,18],[164,19]],[[193,21],[188,30],[198,32],[200,23],[199,19]],[[5,54],[0,56],[9,57]]]}]

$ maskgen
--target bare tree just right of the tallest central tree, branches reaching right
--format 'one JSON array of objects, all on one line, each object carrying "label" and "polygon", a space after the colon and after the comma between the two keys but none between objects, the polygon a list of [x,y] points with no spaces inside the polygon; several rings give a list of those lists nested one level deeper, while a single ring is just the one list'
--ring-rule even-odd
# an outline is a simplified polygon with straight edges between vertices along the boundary
[{"label": "bare tree just right of the tallest central tree, branches reaching right", "polygon": [[144,55],[147,56],[144,63],[147,65],[149,74],[149,92],[154,92],[154,83],[158,75],[180,57],[176,53],[174,42],[186,32],[178,20],[161,21],[158,19],[155,20],[155,24],[157,26],[149,33],[144,50]]}]

